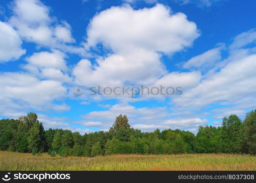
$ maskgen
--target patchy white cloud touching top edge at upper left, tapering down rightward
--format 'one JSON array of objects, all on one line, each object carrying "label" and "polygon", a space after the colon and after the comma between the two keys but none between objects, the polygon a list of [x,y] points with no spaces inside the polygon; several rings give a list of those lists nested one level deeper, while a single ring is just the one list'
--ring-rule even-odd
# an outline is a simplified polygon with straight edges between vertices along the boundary
[{"label": "patchy white cloud touching top edge at upper left, tapering down rightward", "polygon": [[40,0],[15,0],[12,6],[13,15],[8,22],[26,41],[50,49],[61,49],[64,52],[87,55],[80,46],[67,45],[75,43],[71,26],[49,15],[50,8]]}]

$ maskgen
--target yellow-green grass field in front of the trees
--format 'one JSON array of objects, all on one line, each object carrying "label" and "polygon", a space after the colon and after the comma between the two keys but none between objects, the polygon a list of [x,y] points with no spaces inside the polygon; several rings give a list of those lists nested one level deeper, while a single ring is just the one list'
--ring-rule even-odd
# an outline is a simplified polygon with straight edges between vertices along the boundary
[{"label": "yellow-green grass field in front of the trees", "polygon": [[256,156],[120,154],[64,158],[0,151],[0,170],[256,170]]}]

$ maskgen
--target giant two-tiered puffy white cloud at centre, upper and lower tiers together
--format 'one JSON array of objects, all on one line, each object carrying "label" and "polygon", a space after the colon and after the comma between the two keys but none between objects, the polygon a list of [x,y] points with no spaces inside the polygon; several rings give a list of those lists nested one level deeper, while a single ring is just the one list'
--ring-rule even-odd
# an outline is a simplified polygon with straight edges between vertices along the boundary
[{"label": "giant two-tiered puffy white cloud at centre, upper and lower tiers together", "polygon": [[139,10],[126,4],[94,16],[87,36],[85,48],[101,43],[114,53],[96,59],[94,65],[79,61],[73,69],[78,85],[152,85],[168,73],[159,52],[172,54],[191,46],[199,31],[185,14],[162,4]]}]

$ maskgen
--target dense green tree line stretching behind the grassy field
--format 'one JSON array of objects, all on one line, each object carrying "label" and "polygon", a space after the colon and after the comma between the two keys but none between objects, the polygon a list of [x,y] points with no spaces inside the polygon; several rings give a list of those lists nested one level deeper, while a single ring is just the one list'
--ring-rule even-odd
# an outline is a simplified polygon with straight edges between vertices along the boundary
[{"label": "dense green tree line stretching behind the grassy field", "polygon": [[222,125],[199,126],[198,132],[131,128],[126,115],[116,117],[109,131],[81,135],[70,130],[44,130],[34,112],[19,119],[0,120],[0,150],[51,156],[93,157],[107,154],[246,153],[256,154],[256,110],[242,121],[224,117]]}]

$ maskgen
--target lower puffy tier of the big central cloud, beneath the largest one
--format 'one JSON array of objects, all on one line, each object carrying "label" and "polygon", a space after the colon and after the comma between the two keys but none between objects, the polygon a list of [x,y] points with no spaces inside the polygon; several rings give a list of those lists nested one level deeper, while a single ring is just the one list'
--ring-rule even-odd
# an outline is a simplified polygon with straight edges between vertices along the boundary
[{"label": "lower puffy tier of the big central cloud, beneath the largest one", "polygon": [[[137,50],[125,55],[110,55],[98,59],[92,66],[89,60],[83,59],[73,69],[78,85],[85,86],[123,86],[130,83],[152,83],[166,74],[160,56],[154,52]],[[131,74],[133,71],[133,74]]]}]

